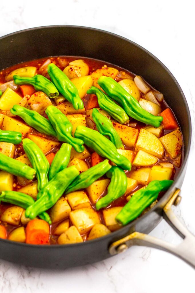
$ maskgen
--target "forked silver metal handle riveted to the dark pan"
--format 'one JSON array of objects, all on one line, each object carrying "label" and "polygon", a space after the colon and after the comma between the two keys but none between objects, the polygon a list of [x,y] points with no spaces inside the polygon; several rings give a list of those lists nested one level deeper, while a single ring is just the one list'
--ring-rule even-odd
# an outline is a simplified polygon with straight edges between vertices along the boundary
[{"label": "forked silver metal handle riveted to the dark pan", "polygon": [[181,196],[179,193],[180,189],[177,189],[163,208],[163,218],[165,221],[184,239],[179,245],[176,246],[147,234],[133,232],[130,235],[113,242],[109,247],[109,253],[115,255],[126,251],[127,248],[133,245],[148,246],[170,252],[195,268],[195,237],[186,227],[183,226],[171,209],[172,205],[177,206],[180,203]]}]

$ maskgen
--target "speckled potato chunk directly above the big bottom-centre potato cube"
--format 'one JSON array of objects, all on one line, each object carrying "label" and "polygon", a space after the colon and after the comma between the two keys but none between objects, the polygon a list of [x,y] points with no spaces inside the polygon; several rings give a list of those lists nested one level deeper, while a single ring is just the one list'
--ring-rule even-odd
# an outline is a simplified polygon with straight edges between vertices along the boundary
[{"label": "speckled potato chunk directly above the big bottom-centre potato cube", "polygon": [[82,209],[91,206],[87,194],[82,190],[68,193],[66,197],[71,209]]}]

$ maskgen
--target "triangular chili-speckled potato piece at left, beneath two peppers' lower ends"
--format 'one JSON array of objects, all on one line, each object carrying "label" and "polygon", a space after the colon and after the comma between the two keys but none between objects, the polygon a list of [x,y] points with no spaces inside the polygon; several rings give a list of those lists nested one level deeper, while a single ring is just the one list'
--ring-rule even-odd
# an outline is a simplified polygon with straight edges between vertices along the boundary
[{"label": "triangular chili-speckled potato piece at left, beneath two peppers' lower ends", "polygon": [[61,144],[60,142],[56,142],[55,140],[29,133],[27,134],[27,138],[31,139],[35,144],[37,144],[44,154],[48,153],[54,148],[58,148]]}]

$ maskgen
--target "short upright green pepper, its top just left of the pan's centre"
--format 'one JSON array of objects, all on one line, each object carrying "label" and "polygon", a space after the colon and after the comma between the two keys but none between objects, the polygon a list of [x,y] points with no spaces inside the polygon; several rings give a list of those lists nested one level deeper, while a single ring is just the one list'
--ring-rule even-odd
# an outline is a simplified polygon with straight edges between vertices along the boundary
[{"label": "short upright green pepper, its top just left of the pan's centre", "polygon": [[71,152],[72,146],[70,144],[63,143],[61,145],[61,148],[55,155],[51,166],[49,168],[49,180],[54,178],[54,176],[65,169],[68,166],[68,163],[70,161],[70,152]]}]

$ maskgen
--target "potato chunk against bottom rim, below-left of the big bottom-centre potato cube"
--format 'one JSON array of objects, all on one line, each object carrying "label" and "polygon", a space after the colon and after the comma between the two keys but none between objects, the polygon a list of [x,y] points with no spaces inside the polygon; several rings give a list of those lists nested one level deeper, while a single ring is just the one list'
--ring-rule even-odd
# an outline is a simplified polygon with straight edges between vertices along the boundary
[{"label": "potato chunk against bottom rim, below-left of the big bottom-centre potato cube", "polygon": [[58,244],[71,244],[83,242],[79,231],[75,226],[71,226],[67,231],[62,233],[58,238]]}]

